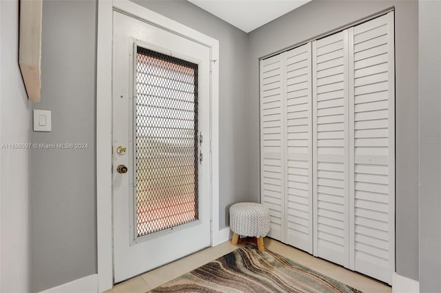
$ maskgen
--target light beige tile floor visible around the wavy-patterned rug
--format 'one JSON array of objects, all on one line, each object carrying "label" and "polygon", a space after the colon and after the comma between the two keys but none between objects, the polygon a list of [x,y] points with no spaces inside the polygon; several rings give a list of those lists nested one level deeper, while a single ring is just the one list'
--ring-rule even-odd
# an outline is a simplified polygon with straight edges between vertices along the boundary
[{"label": "light beige tile floor visible around the wavy-patterned rug", "polygon": [[[237,246],[232,245],[230,241],[221,243],[216,247],[210,247],[205,250],[201,250],[200,252],[196,252],[194,254],[189,255],[188,257],[184,257],[183,259],[179,259],[178,261],[174,261],[173,263],[169,263],[167,265],[163,265],[161,268],[157,268],[156,270],[151,270],[150,272],[146,272],[141,276],[136,276],[133,279],[115,285],[111,290],[106,291],[107,293],[145,293],[154,287],[158,287],[163,283],[167,283],[168,281],[181,276],[181,274],[185,274],[195,268],[208,263],[218,257],[222,257],[224,254],[232,252],[238,246],[243,245],[245,241],[240,239],[241,241]],[[358,290],[362,292],[373,292],[373,293],[391,293],[391,287],[384,285],[379,281],[371,279],[362,274],[358,274],[356,272],[352,272],[351,270],[347,270],[342,268],[340,265],[335,265],[334,263],[330,263],[329,261],[325,261],[323,259],[319,259],[317,257],[311,256],[302,250],[298,250],[296,248],[292,248],[291,246],[287,246],[279,241],[274,239],[265,238],[265,248],[276,252],[288,259],[292,259],[297,263],[307,266],[311,270],[316,270],[322,274],[325,274],[331,278],[334,278],[342,283],[347,285],[351,285],[352,287],[356,287]]]}]

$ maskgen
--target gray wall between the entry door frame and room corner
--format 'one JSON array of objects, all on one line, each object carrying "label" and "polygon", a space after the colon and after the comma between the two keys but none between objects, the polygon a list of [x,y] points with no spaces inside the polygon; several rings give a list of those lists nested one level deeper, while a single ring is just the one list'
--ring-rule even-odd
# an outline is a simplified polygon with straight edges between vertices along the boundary
[{"label": "gray wall between the entry door frame and room corner", "polygon": [[247,193],[247,34],[187,1],[134,1],[219,41],[219,228]]}]

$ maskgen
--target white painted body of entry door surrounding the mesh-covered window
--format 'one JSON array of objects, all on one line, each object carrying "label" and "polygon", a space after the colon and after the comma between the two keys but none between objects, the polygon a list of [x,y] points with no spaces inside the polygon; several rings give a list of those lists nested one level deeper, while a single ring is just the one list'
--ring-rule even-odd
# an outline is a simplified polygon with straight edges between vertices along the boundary
[{"label": "white painted body of entry door surrounding the mesh-covered window", "polygon": [[[198,64],[198,131],[209,137],[210,48],[114,12],[113,63],[113,213],[114,282],[123,281],[210,245],[209,140],[199,147],[198,220],[137,237],[134,201],[134,60],[136,46]],[[135,97],[136,98],[136,97]],[[120,155],[118,146],[127,146]],[[127,173],[116,166],[127,166]]]}]

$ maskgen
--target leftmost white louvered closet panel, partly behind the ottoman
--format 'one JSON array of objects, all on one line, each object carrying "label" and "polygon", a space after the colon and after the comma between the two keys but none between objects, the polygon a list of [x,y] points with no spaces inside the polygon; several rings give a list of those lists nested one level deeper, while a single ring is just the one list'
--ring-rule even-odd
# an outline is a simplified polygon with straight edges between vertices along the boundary
[{"label": "leftmost white louvered closet panel, partly behind the ottoman", "polygon": [[284,240],[285,158],[283,58],[260,61],[260,193],[269,208],[269,237]]}]

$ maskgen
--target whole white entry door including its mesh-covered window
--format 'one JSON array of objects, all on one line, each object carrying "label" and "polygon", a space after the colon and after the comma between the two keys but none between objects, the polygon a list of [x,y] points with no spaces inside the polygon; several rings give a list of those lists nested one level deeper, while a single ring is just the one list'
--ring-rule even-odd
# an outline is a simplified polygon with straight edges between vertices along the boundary
[{"label": "whole white entry door including its mesh-covered window", "polygon": [[117,283],[211,243],[210,49],[120,12],[113,18]]}]

